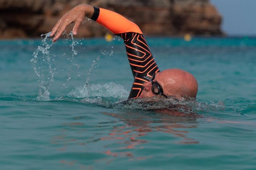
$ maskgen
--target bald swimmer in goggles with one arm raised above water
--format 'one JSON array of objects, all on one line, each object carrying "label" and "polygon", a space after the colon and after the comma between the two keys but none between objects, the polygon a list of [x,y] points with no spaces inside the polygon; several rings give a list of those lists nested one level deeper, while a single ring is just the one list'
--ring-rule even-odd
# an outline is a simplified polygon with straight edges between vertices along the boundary
[{"label": "bald swimmer in goggles with one arm raised above water", "polygon": [[192,74],[181,69],[159,70],[140,28],[127,18],[104,8],[81,4],[64,14],[50,34],[57,41],[65,28],[75,23],[73,35],[77,35],[85,17],[91,18],[112,33],[123,38],[134,82],[130,98],[159,96],[177,99],[196,98],[197,81]]}]

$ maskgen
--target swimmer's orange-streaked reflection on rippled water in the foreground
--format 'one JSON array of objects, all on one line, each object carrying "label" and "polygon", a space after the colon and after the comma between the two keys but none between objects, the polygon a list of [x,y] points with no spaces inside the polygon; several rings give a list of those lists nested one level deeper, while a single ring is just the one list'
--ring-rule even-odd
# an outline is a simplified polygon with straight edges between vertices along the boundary
[{"label": "swimmer's orange-streaked reflection on rippled water in the foreground", "polygon": [[[154,157],[153,153],[140,156],[138,150],[154,148],[159,145],[157,141],[163,136],[163,141],[168,140],[167,145],[199,143],[198,139],[190,137],[188,130],[199,125],[198,118],[195,117],[177,117],[154,111],[141,112],[127,109],[116,113],[102,112],[102,114],[111,119],[115,118],[115,121],[104,120],[93,124],[84,122],[86,120],[84,116],[75,117],[76,122],[62,124],[62,135],[54,137],[51,143],[57,146],[59,152],[68,152],[72,147],[79,147],[80,149],[76,148],[76,150],[82,152],[88,148],[98,148],[105,156],[95,159],[95,163],[110,163],[121,157],[127,157],[129,161],[150,159]],[[62,160],[62,163],[74,162]]]}]

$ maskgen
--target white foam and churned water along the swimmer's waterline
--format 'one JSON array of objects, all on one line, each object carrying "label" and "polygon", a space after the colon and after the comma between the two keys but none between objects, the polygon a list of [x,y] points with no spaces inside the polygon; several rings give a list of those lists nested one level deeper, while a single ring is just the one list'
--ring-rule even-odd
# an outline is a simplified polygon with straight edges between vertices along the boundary
[{"label": "white foam and churned water along the swimmer's waterline", "polygon": [[[92,103],[105,108],[114,109],[142,109],[142,110],[160,110],[179,111],[186,115],[198,112],[216,111],[216,110],[234,110],[232,107],[226,107],[222,101],[201,102],[194,99],[175,99],[169,98],[137,98],[127,100],[129,91],[122,85],[109,82],[108,84],[92,84],[90,86],[80,86],[69,92],[69,98],[75,99],[80,103]],[[67,100],[67,98],[63,98]],[[69,99],[68,99],[69,100]],[[234,110],[235,111],[235,110]],[[238,112],[238,111],[237,111]],[[183,116],[184,116],[183,114]],[[180,114],[181,115],[181,114]]]}]

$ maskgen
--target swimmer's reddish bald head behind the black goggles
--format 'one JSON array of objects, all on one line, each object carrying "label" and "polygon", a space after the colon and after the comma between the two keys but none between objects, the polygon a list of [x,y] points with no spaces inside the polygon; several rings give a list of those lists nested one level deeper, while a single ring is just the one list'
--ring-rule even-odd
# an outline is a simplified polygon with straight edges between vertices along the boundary
[{"label": "swimmer's reddish bald head behind the black goggles", "polygon": [[166,69],[158,73],[158,82],[166,95],[196,98],[197,81],[192,74],[181,69]]}]

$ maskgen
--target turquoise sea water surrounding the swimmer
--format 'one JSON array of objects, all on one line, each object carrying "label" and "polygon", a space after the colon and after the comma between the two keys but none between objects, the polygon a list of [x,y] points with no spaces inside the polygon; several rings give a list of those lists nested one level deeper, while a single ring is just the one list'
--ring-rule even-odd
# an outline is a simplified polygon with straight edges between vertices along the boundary
[{"label": "turquoise sea water surrounding the swimmer", "polygon": [[198,80],[182,103],[198,116],[121,102],[118,38],[0,41],[0,169],[256,169],[256,38],[147,39],[161,70]]}]

